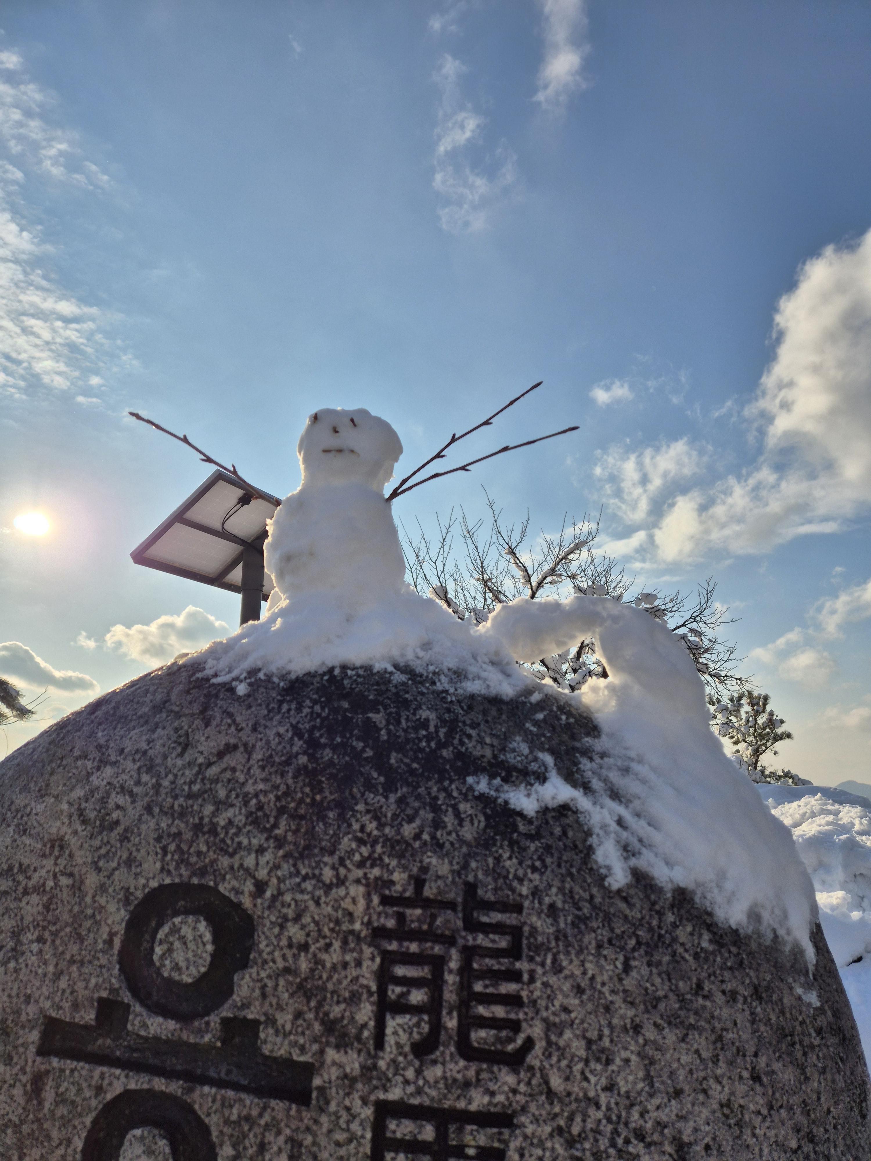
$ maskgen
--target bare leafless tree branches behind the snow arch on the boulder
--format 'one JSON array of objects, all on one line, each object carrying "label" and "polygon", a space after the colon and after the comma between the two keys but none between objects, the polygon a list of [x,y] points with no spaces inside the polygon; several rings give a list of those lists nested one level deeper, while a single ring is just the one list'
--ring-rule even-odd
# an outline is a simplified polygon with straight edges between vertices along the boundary
[{"label": "bare leafless tree branches behind the snow arch on the boulder", "polygon": [[[485,493],[487,495],[487,493]],[[519,525],[505,524],[488,496],[489,518],[470,521],[436,517],[438,538],[430,539],[418,522],[416,540],[402,528],[403,551],[411,584],[440,600],[460,620],[485,621],[497,605],[518,597],[573,597],[575,593],[632,601],[663,621],[682,637],[708,693],[720,700],[744,688],[734,672],[735,646],[720,632],[732,623],[728,610],[715,599],[717,582],[708,577],[694,599],[658,589],[633,592],[634,579],[607,553],[595,548],[599,521],[568,515],[555,535],[530,535],[528,513]],[[454,541],[459,539],[456,550]],[[542,657],[527,666],[540,680],[562,690],[580,688],[590,678],[607,677],[596,654],[596,642],[580,641],[571,649]]]}]

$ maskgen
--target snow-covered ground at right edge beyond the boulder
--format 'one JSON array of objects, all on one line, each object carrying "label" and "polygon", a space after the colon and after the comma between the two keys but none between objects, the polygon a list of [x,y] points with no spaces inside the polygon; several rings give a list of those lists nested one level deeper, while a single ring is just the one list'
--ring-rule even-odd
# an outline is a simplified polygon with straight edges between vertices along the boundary
[{"label": "snow-covered ground at right edge beyond the boulder", "polygon": [[871,801],[830,786],[758,786],[796,839],[871,1062]]}]

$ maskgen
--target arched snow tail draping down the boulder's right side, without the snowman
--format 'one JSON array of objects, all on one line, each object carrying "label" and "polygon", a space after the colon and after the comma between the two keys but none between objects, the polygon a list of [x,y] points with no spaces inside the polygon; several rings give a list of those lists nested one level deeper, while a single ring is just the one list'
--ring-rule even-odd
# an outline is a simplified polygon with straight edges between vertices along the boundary
[{"label": "arched snow tail draping down the boulder's right side, without the snowman", "polygon": [[812,885],[789,830],[756,808],[756,788],[711,731],[704,686],[675,634],[642,608],[588,596],[501,605],[477,632],[499,636],[520,661],[592,637],[609,673],[580,695],[603,733],[602,758],[586,773],[607,795],[590,801],[554,785],[554,774],[535,801],[517,798],[519,808],[574,801],[614,886],[641,867],[692,888],[727,923],[756,920],[791,935],[813,961]]}]

